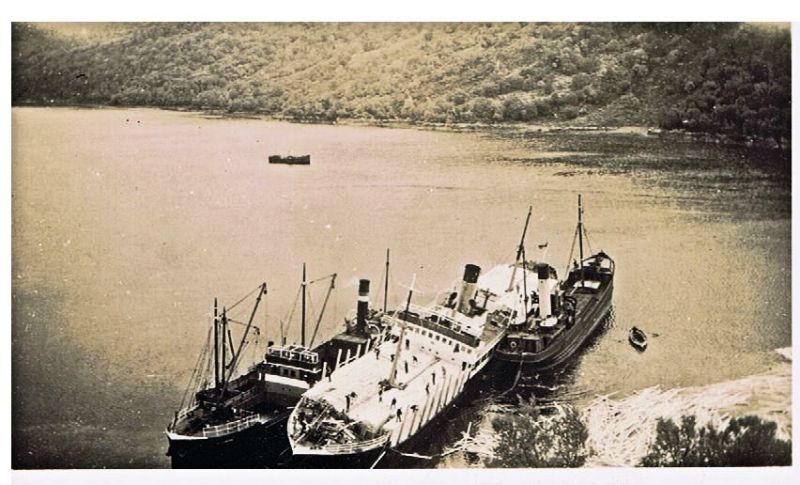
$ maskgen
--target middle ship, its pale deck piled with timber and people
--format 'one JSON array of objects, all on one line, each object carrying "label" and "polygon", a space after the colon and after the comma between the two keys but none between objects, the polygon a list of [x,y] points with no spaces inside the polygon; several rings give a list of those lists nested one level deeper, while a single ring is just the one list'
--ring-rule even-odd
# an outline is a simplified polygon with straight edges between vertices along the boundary
[{"label": "middle ship, its pale deck piled with timber and people", "polygon": [[[525,268],[485,275],[467,265],[457,291],[384,316],[386,338],[316,383],[287,424],[304,466],[374,466],[448,408],[489,362],[514,318],[524,317]],[[413,285],[412,285],[413,286]]]}]

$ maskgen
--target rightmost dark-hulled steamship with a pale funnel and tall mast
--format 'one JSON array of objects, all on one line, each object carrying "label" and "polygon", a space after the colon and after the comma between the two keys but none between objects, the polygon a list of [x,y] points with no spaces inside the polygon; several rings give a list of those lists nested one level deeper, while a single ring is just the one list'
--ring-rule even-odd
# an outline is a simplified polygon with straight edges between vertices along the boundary
[{"label": "rightmost dark-hulled steamship with a pale funnel and tall mast", "polygon": [[561,282],[555,268],[544,262],[525,261],[522,250],[521,264],[536,270],[537,290],[526,292],[526,301],[530,302],[527,317],[509,326],[495,352],[499,360],[537,369],[563,364],[610,313],[615,264],[602,250],[584,257],[584,239],[588,238],[583,225],[581,196],[578,196],[578,226],[574,239],[578,241],[579,259]]}]

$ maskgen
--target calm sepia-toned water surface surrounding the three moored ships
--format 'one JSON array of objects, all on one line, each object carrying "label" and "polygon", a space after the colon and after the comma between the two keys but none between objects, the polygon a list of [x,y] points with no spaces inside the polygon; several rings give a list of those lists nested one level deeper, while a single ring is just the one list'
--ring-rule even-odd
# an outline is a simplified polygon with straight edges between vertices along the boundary
[{"label": "calm sepia-toned water surface surrounding the three moored ships", "polygon": [[[592,247],[618,273],[614,318],[570,367],[563,399],[749,375],[791,345],[788,154],[157,110],[15,108],[12,127],[16,467],[169,466],[162,430],[214,297],[230,304],[267,281],[263,348],[302,263],[311,278],[337,272],[329,336],[358,278],[382,299],[387,247],[390,302],[413,274],[423,302],[464,263],[513,259],[528,205],[529,256],[563,271],[578,193]],[[274,153],[313,164],[267,164]],[[324,291],[312,287],[315,309]],[[658,335],[646,353],[627,344],[633,325]]]}]

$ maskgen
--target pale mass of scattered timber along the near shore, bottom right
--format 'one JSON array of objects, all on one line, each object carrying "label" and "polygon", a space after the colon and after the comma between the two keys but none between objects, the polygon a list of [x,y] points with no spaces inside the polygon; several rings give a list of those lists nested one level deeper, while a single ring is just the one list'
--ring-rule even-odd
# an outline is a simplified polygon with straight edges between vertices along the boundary
[{"label": "pale mass of scattered timber along the near shore, bottom right", "polygon": [[[724,428],[736,417],[756,416],[775,423],[777,438],[792,439],[792,351],[775,349],[765,370],[733,379],[701,385],[662,388],[659,385],[632,391],[625,396],[597,395],[588,403],[567,401],[579,411],[587,428],[587,451],[583,468],[637,467],[656,436],[659,419],[679,423],[694,416],[699,425]],[[787,407],[788,404],[788,407]],[[473,446],[461,451],[480,454],[492,443],[492,419],[508,413],[502,406],[488,409],[474,432]],[[563,412],[563,409],[558,409]],[[486,468],[483,459],[475,463],[454,454],[443,463],[470,469]]]}]

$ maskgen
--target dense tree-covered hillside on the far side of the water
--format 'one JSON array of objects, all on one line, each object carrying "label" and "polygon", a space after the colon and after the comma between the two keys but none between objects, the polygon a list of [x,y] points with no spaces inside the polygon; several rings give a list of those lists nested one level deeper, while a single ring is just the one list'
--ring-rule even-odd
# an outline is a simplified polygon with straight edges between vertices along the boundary
[{"label": "dense tree-covered hillside on the far side of the water", "polygon": [[790,132],[790,33],[747,24],[14,24],[12,102],[304,120]]}]

